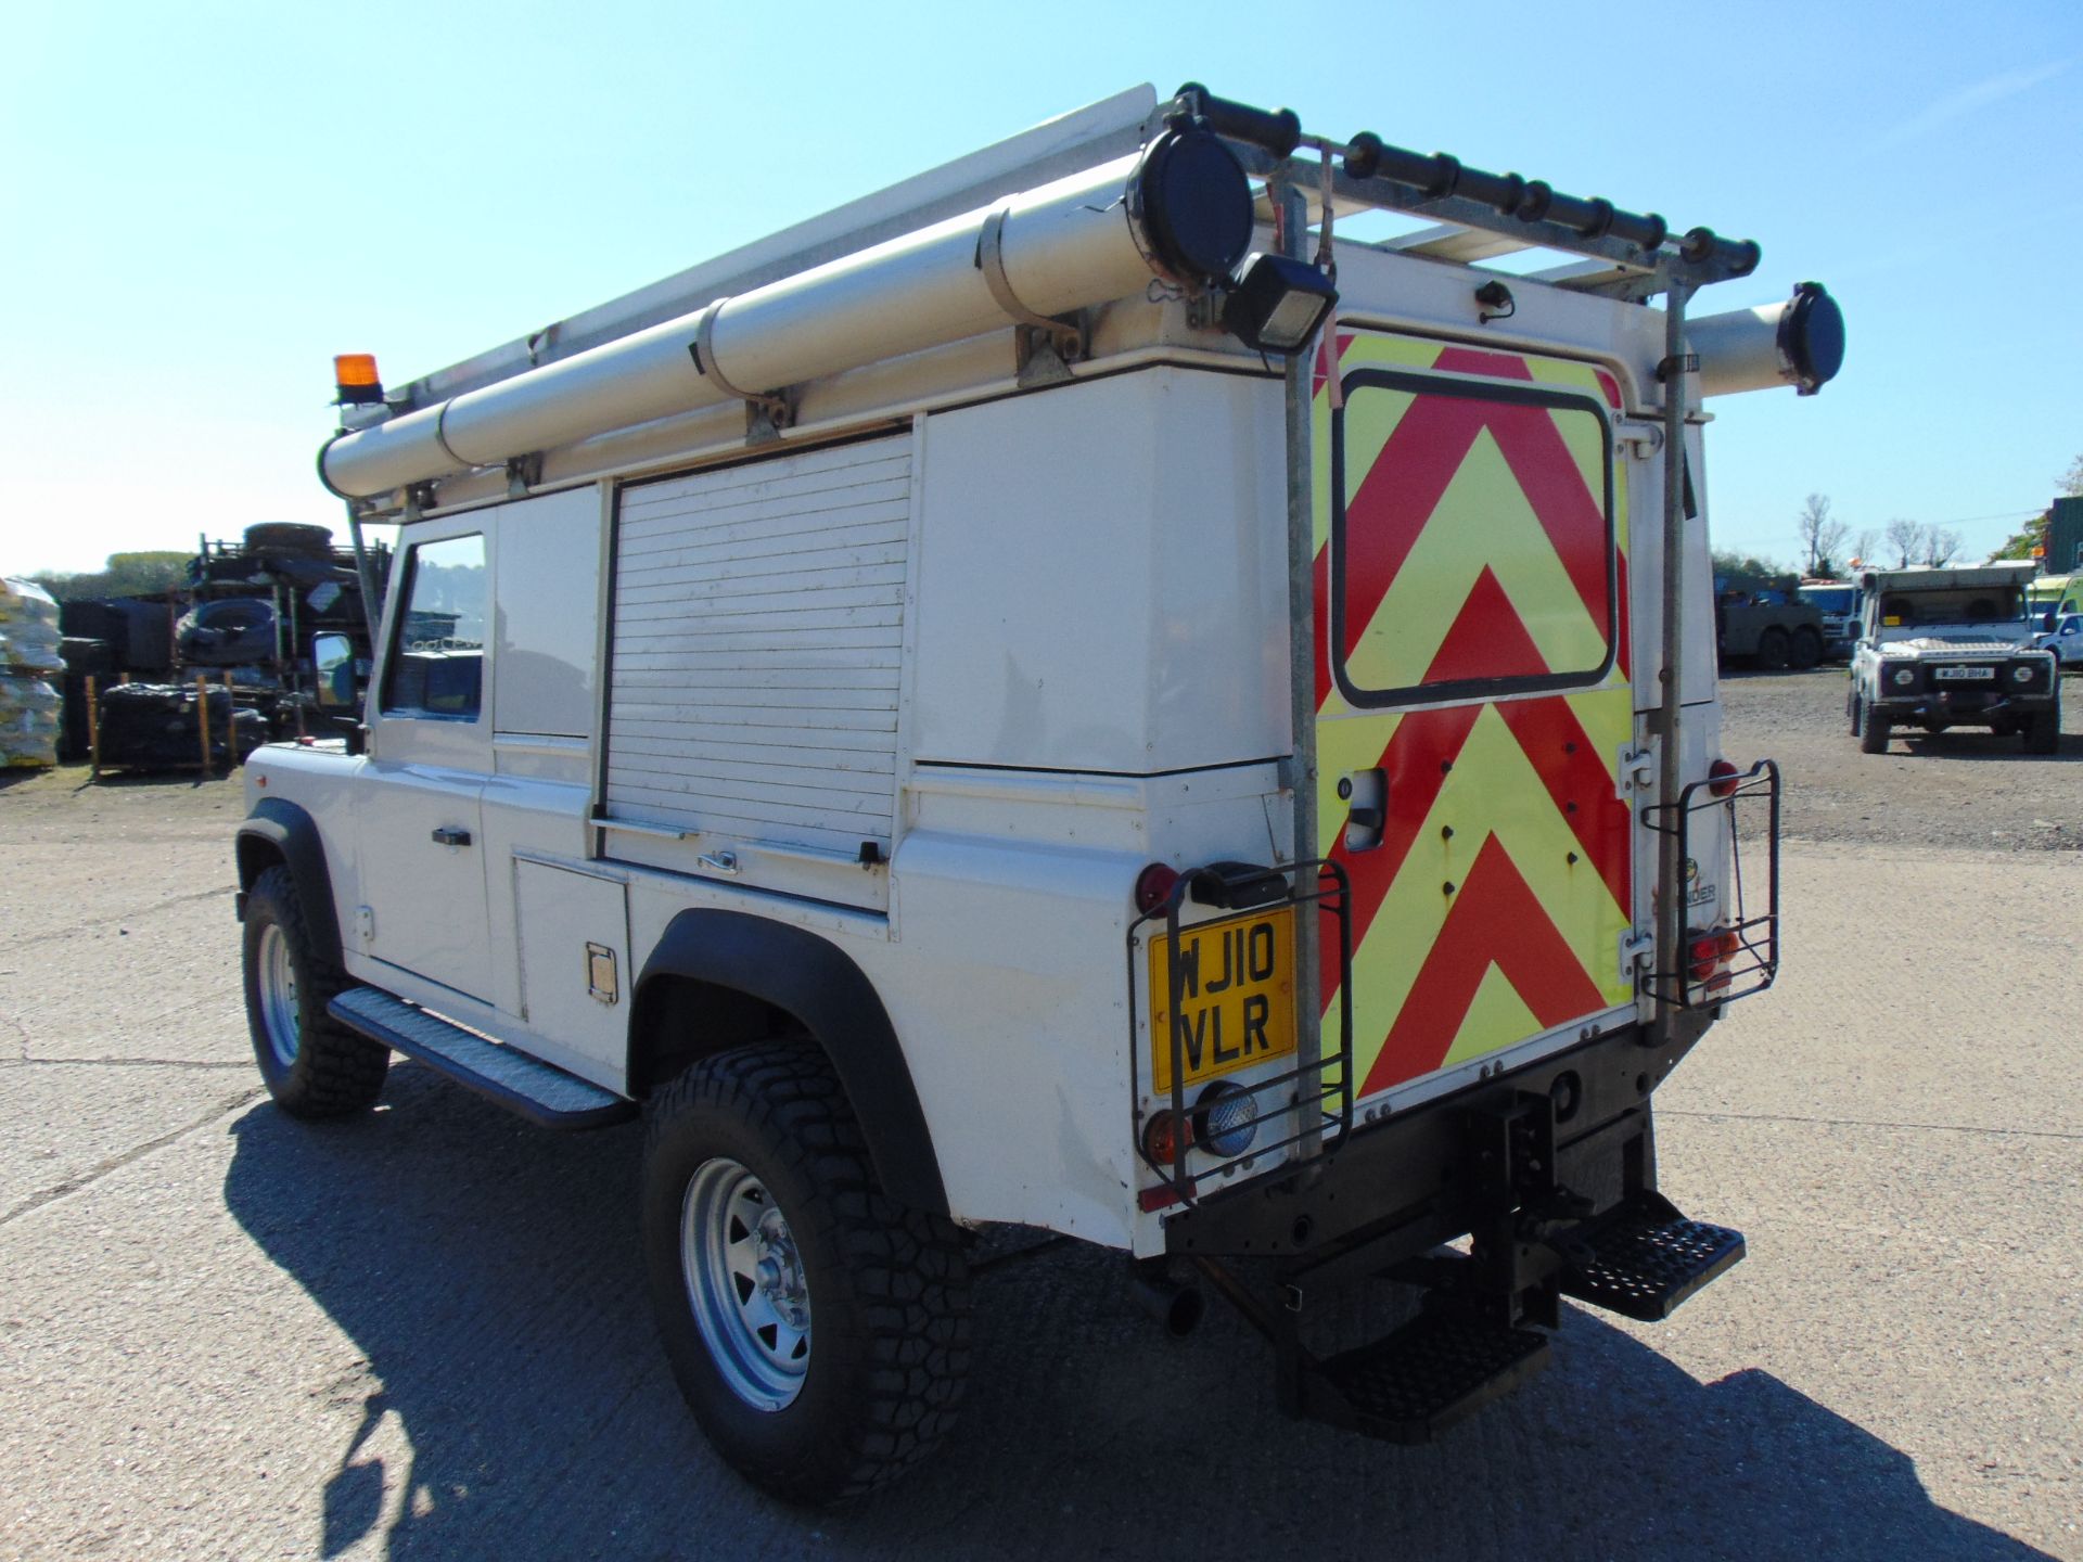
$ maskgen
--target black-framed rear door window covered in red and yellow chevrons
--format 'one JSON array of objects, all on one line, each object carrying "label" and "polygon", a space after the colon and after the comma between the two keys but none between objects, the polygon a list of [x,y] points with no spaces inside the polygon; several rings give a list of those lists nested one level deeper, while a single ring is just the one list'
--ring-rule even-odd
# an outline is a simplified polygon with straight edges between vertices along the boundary
[{"label": "black-framed rear door window covered in red and yellow chevrons", "polygon": [[1621,639],[1591,398],[1358,371],[1331,429],[1331,673],[1360,708],[1600,683]]}]

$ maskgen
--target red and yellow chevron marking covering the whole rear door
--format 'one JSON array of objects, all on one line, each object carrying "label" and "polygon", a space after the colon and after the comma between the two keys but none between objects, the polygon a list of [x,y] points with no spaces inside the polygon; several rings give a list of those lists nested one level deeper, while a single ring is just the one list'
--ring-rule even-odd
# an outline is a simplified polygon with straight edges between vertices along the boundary
[{"label": "red and yellow chevron marking covering the whole rear door", "polygon": [[[1383,367],[1581,392],[1581,362],[1341,335],[1341,375]],[[1627,508],[1614,487],[1618,594],[1606,598],[1606,450],[1598,419],[1523,400],[1348,389],[1344,662],[1360,689],[1614,664],[1568,694],[1350,706],[1331,677],[1331,412],[1316,367],[1319,852],[1352,877],[1354,1068],[1373,1093],[1633,1000],[1618,943],[1633,910]],[[1608,616],[1612,621],[1608,621]],[[1344,843],[1337,783],[1381,769],[1377,848]],[[1323,1004],[1335,1021],[1337,962]]]}]

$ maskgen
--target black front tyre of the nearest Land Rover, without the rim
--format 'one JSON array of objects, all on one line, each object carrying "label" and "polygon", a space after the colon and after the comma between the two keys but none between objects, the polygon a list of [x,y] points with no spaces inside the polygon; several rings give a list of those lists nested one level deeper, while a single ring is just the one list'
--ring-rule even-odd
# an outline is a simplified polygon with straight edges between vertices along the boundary
[{"label": "black front tyre of the nearest Land Rover, without the rim", "polygon": [[[262,993],[269,929],[287,946],[290,971],[296,977],[294,1058],[281,1056]],[[246,891],[244,966],[246,1027],[252,1033],[254,1062],[260,1064],[260,1079],[275,1106],[300,1118],[348,1116],[369,1108],[383,1091],[390,1048],[350,1031],[325,1012],[325,1006],[354,983],[319,954],[296,898],[296,881],[281,864],[265,868]]]}]

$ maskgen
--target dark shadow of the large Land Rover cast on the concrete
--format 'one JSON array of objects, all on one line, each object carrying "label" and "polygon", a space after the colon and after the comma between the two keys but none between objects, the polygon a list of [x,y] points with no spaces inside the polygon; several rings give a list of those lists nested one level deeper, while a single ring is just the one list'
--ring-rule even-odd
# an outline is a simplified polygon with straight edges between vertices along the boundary
[{"label": "dark shadow of the large Land Rover cast on the concrete", "polygon": [[[367,1358],[310,1412],[337,1466],[283,1491],[312,1556],[2041,1556],[1768,1370],[1700,1383],[1593,1314],[1431,1447],[1294,1425],[1235,1318],[1171,1341],[1121,1260],[1079,1245],[979,1279],[950,1447],[860,1510],[802,1514],[737,1483],[664,1370],[639,1129],[539,1133],[400,1064],[373,1116],[260,1104],[233,1133],[231,1214]],[[375,1439],[392,1418],[402,1437]],[[371,1452],[400,1443],[406,1470]]]}]

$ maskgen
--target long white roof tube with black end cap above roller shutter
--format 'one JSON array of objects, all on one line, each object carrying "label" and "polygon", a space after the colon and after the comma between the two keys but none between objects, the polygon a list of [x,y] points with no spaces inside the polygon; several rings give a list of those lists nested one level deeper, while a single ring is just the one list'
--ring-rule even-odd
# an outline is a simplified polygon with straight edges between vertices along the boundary
[{"label": "long white roof tube with black end cap above roller shutter", "polygon": [[[985,242],[989,229],[996,244]],[[1131,156],[337,433],[319,452],[319,479],[340,498],[373,498],[1110,304],[1152,277],[1216,285],[1250,235],[1252,196],[1237,158],[1204,129],[1166,131]]]}]

